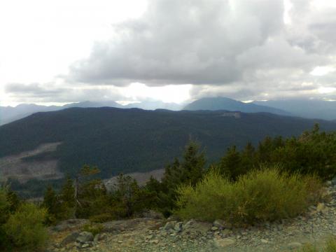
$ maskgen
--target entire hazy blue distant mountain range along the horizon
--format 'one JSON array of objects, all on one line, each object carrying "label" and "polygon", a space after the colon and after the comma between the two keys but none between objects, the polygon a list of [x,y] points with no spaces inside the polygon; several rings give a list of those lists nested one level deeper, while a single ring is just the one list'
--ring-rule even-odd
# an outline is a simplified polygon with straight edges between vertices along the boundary
[{"label": "entire hazy blue distant mountain range along the horizon", "polygon": [[281,116],[300,116],[303,118],[320,118],[324,120],[336,120],[336,102],[311,99],[287,99],[269,100],[256,102],[239,102],[226,97],[207,97],[198,99],[195,102],[182,106],[180,104],[165,103],[160,101],[138,102],[127,105],[118,102],[78,102],[66,104],[64,106],[40,106],[36,104],[20,104],[16,107],[0,106],[0,125],[13,122],[20,118],[25,118],[36,112],[59,111],[68,108],[99,108],[113,107],[120,109],[139,108],[146,110],[169,109],[179,111],[181,109],[189,111],[240,111],[244,113],[274,113]]}]

